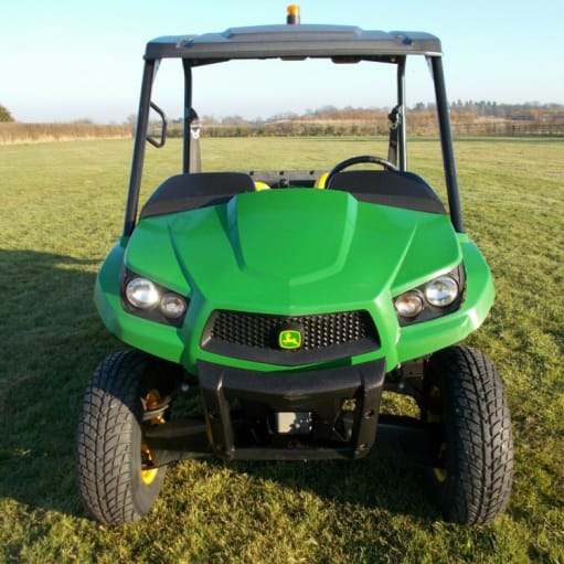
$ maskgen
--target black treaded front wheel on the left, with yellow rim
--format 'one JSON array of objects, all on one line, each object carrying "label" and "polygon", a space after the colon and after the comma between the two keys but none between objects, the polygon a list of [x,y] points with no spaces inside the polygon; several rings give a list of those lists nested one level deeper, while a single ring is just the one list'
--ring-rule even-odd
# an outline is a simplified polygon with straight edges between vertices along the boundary
[{"label": "black treaded front wheel on the left, with yellow rim", "polygon": [[[96,369],[84,396],[78,485],[86,510],[102,523],[146,515],[164,479],[166,468],[152,466],[143,444],[143,426],[162,423],[167,406],[150,365],[150,357],[139,351],[113,354]],[[150,421],[143,423],[143,413]]]}]

